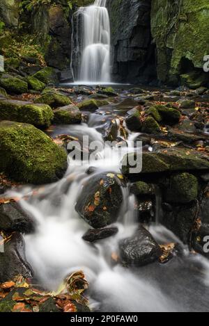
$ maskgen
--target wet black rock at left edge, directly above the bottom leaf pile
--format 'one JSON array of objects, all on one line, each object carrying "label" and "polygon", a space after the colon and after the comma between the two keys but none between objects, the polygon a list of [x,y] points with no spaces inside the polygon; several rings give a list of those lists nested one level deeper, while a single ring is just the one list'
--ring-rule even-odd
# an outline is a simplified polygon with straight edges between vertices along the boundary
[{"label": "wet black rock at left edge, directly above the bottom leaf pile", "polygon": [[31,278],[33,271],[24,256],[23,238],[20,234],[14,233],[4,244],[4,250],[0,251],[0,283],[10,281],[17,275]]}]

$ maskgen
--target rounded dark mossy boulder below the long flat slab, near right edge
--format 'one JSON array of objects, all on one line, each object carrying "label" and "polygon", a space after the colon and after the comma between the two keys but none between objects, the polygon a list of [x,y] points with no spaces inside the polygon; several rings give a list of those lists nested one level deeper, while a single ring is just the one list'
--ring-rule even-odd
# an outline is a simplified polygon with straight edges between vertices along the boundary
[{"label": "rounded dark mossy boulder below the long flat slab, near right edge", "polygon": [[198,180],[189,173],[176,174],[169,180],[164,191],[164,199],[170,203],[186,204],[192,202],[198,195]]}]

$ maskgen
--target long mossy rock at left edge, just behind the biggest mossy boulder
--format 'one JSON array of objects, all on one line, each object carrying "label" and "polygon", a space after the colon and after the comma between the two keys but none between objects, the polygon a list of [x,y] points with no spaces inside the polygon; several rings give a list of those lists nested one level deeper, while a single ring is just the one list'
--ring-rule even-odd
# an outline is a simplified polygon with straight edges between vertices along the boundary
[{"label": "long mossy rock at left edge, just behind the biggest mossy boulder", "polygon": [[47,104],[33,104],[12,99],[0,100],[0,120],[10,120],[49,127],[54,113]]}]

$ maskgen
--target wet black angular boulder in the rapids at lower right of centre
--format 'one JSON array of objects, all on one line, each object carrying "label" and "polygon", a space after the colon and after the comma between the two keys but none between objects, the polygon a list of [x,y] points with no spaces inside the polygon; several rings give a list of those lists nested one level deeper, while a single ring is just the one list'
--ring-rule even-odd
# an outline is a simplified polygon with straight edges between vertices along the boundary
[{"label": "wet black angular boulder in the rapids at lower right of centre", "polygon": [[142,226],[134,236],[122,240],[119,247],[121,261],[129,266],[145,266],[157,261],[162,255],[160,246]]}]

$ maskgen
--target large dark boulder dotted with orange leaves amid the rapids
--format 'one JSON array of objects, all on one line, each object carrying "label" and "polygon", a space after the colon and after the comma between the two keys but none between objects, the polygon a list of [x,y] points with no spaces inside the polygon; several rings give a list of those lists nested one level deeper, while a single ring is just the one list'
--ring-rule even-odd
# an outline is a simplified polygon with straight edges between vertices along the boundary
[{"label": "large dark boulder dotted with orange leaves amid the rapids", "polygon": [[101,229],[116,222],[123,203],[123,176],[96,174],[90,177],[77,199],[75,209],[91,227]]}]

